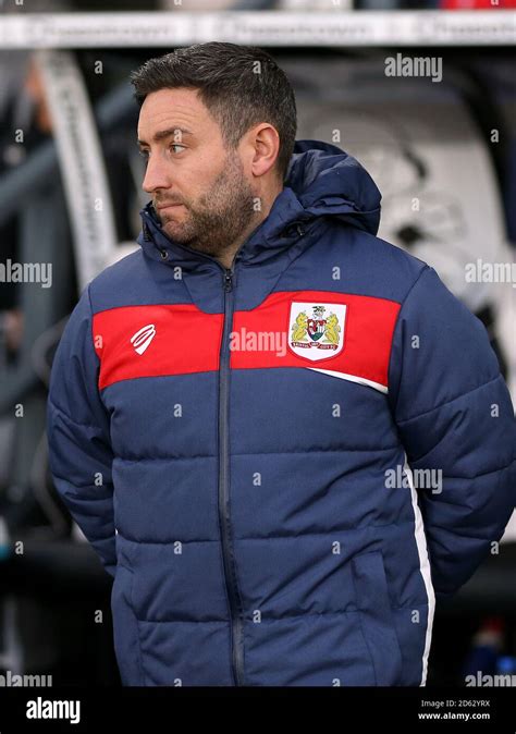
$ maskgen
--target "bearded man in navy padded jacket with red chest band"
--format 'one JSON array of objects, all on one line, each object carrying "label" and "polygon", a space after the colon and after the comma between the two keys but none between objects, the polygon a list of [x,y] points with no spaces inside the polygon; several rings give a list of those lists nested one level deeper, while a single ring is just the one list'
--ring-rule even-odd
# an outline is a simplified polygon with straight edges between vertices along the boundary
[{"label": "bearded man in navy padded jacket with red chest band", "polygon": [[142,249],[82,294],[48,412],[122,681],[422,685],[434,594],[514,507],[484,328],[376,236],[356,160],[295,143],[266,52],[193,46],[132,81]]}]

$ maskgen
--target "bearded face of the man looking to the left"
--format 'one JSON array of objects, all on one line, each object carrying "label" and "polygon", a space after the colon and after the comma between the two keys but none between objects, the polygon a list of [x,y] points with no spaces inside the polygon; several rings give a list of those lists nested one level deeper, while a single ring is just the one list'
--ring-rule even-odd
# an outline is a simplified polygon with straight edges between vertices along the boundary
[{"label": "bearded face of the man looking to the left", "polygon": [[138,145],[147,159],[143,188],[171,240],[219,257],[256,218],[238,149],[224,147],[196,89],[148,95]]}]

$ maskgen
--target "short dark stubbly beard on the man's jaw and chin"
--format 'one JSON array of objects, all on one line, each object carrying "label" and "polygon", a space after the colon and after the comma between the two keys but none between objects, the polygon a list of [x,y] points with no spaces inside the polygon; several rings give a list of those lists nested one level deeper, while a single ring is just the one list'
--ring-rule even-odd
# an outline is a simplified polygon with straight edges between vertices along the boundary
[{"label": "short dark stubbly beard on the man's jaw and chin", "polygon": [[161,228],[170,240],[212,257],[220,257],[248,230],[259,212],[254,210],[254,193],[245,178],[239,158],[228,155],[224,167],[195,203],[184,198],[182,219],[157,210],[168,199],[155,199]]}]

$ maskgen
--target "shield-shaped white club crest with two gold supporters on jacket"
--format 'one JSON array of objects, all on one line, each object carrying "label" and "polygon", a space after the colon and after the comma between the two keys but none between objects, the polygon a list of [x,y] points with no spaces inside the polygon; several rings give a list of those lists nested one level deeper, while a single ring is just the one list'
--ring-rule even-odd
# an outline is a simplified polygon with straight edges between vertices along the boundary
[{"label": "shield-shaped white club crest with two gold supporters on jacket", "polygon": [[317,362],[342,352],[346,305],[299,303],[291,305],[288,346],[299,357]]}]

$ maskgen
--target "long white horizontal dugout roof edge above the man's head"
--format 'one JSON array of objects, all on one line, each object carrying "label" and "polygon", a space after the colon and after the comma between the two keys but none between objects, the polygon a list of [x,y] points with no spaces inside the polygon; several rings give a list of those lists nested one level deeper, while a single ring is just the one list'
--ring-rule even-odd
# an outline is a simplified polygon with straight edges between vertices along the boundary
[{"label": "long white horizontal dugout roof edge above the man's head", "polygon": [[23,13],[0,20],[1,48],[175,47],[210,40],[256,46],[516,44],[516,12],[241,11]]}]

